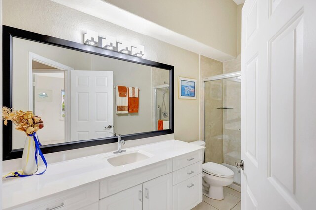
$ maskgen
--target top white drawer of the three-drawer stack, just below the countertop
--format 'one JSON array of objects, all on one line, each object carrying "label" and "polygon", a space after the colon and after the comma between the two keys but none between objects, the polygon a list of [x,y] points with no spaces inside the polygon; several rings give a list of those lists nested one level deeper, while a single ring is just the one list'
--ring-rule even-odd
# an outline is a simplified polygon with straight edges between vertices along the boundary
[{"label": "top white drawer of the three-drawer stack, just below the countertop", "polygon": [[201,161],[203,158],[203,150],[200,149],[195,152],[190,152],[185,155],[181,155],[173,158],[173,171],[189,166],[193,163]]}]

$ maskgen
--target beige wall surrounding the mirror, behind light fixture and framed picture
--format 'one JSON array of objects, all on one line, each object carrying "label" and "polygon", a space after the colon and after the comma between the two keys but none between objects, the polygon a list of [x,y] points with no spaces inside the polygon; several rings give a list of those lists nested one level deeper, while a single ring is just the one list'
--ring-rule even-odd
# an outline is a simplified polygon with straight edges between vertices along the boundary
[{"label": "beige wall surrounding the mirror, behind light fixture and framed picture", "polygon": [[3,24],[79,43],[82,43],[86,29],[98,31],[101,36],[107,34],[143,43],[146,47],[145,59],[173,65],[175,68],[175,138],[184,141],[199,139],[199,91],[196,100],[180,100],[177,97],[178,76],[195,78],[199,85],[197,54],[49,0],[4,0]]}]

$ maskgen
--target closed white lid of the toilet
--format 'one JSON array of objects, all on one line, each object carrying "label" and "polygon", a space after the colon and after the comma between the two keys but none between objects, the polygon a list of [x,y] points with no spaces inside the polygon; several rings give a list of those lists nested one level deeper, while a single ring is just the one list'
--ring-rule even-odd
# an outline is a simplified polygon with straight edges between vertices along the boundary
[{"label": "closed white lid of the toilet", "polygon": [[203,171],[210,175],[215,175],[219,177],[234,177],[234,172],[218,163],[207,162],[203,164]]}]

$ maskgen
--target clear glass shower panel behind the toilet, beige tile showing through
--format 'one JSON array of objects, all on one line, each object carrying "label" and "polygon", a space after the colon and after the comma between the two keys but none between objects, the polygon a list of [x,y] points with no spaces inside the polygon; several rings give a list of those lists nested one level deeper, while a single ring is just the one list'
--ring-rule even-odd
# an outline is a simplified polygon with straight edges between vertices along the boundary
[{"label": "clear glass shower panel behind the toilet, beige tile showing through", "polygon": [[241,76],[204,82],[206,162],[240,162],[240,94]]}]

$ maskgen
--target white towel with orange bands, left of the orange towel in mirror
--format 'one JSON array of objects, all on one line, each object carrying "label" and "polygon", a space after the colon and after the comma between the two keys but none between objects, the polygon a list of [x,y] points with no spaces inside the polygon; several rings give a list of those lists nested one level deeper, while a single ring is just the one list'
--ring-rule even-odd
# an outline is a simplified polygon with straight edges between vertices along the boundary
[{"label": "white towel with orange bands, left of the orange towel in mirror", "polygon": [[128,114],[128,97],[127,87],[116,86],[115,88],[115,102],[117,114]]}]

